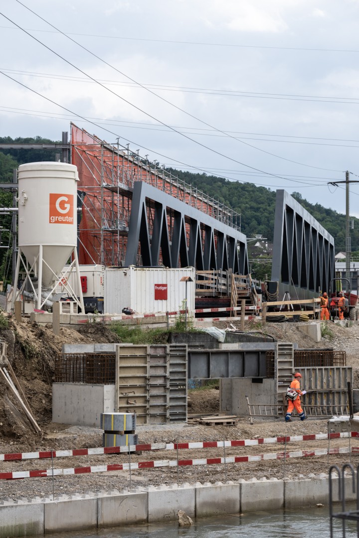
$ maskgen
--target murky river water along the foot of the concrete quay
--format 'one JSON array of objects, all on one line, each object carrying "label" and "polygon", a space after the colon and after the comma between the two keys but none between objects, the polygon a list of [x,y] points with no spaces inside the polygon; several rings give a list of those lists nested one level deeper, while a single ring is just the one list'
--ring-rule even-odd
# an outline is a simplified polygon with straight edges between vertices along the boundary
[{"label": "murky river water along the foot of the concrete quay", "polygon": [[[339,505],[335,508],[340,511]],[[355,509],[348,504],[347,510]],[[342,536],[342,523],[334,520],[334,538]],[[356,523],[347,522],[346,536],[358,536]],[[329,538],[329,515],[326,508],[292,509],[231,514],[199,518],[191,527],[170,523],[146,523],[100,530],[55,533],[51,538]],[[38,538],[40,538],[38,536]]]}]

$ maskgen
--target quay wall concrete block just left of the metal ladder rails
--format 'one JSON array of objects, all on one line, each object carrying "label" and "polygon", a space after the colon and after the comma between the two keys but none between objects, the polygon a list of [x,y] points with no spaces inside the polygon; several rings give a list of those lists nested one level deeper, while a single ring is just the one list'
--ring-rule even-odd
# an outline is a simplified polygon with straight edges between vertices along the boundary
[{"label": "quay wall concrete block just left of the metal ladder rails", "polygon": [[315,506],[318,502],[327,505],[329,495],[328,478],[311,480],[288,480],[284,483],[284,506]]}]

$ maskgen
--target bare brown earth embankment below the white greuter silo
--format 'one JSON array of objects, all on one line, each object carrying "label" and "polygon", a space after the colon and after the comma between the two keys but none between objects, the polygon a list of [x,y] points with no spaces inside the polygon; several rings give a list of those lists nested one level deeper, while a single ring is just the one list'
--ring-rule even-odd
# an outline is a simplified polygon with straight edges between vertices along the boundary
[{"label": "bare brown earth embankment below the white greuter silo", "polygon": [[[30,321],[17,323],[8,318],[8,328],[0,330],[0,339],[8,343],[8,358],[20,386],[41,429],[51,422],[52,383],[55,358],[65,343],[119,342],[116,334],[100,324],[84,325],[79,331],[62,327],[54,335],[51,325]],[[0,379],[0,438],[23,441],[29,448],[39,443],[17,400]]]}]

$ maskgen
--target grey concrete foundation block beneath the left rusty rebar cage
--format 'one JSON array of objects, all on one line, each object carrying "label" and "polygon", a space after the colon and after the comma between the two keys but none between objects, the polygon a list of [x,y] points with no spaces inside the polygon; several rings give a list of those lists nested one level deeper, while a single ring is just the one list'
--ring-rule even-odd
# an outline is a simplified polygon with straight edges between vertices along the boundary
[{"label": "grey concrete foundation block beneath the left rusty rebar cage", "polygon": [[115,410],[115,385],[52,385],[53,422],[101,428],[101,413]]}]

